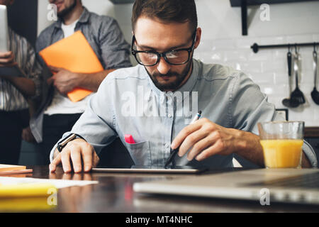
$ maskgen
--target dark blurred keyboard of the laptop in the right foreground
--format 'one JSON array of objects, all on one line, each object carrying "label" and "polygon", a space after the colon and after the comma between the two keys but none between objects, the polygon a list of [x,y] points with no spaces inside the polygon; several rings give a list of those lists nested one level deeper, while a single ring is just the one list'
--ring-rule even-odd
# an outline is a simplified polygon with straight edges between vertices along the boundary
[{"label": "dark blurred keyboard of the laptop in the right foreground", "polygon": [[269,180],[250,184],[253,186],[265,187],[298,187],[303,189],[319,189],[319,172],[307,175],[285,177],[281,179]]}]

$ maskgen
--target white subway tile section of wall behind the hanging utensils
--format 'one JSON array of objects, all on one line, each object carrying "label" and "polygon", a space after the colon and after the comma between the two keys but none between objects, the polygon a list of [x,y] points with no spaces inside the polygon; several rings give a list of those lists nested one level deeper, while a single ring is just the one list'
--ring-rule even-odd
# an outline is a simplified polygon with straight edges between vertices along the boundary
[{"label": "white subway tile section of wall behind the hanging utensils", "polygon": [[[306,38],[301,39],[301,37]],[[294,40],[291,43],[318,42],[319,40],[316,39],[318,37],[319,34],[298,35],[296,39],[298,41]],[[288,39],[293,40],[293,35],[258,38],[260,43],[264,43],[264,45],[286,43],[278,40]],[[281,101],[289,96],[287,49],[262,49],[254,53],[250,46],[255,40],[249,37],[211,39],[213,44],[209,40],[203,40],[203,43],[210,48],[198,48],[194,57],[206,63],[230,65],[237,70],[242,70],[259,85],[262,92],[267,94],[269,101],[274,103],[276,108],[286,108],[286,106],[281,104]],[[307,102],[296,109],[289,109],[289,120],[306,121],[306,126],[319,126],[319,106],[313,102],[310,96],[314,87],[312,51],[313,48],[311,47],[299,50],[302,57],[300,89],[305,95]],[[294,80],[292,87],[293,89],[295,88]]]}]

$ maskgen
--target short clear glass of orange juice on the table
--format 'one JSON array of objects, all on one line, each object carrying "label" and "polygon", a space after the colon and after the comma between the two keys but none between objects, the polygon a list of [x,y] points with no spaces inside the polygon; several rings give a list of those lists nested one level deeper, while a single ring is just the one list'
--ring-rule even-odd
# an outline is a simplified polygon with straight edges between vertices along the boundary
[{"label": "short clear glass of orange juice on the table", "polygon": [[303,121],[258,123],[267,168],[301,168]]}]

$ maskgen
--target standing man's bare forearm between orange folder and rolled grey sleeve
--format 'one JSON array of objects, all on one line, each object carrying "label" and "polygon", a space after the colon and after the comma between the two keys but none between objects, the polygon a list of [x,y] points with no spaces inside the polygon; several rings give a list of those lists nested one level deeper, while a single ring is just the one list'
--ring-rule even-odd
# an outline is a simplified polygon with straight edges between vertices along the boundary
[{"label": "standing man's bare forearm between orange folder and rolled grey sleeve", "polygon": [[97,92],[103,79],[114,70],[103,70],[101,72],[81,74],[79,77],[79,87]]}]

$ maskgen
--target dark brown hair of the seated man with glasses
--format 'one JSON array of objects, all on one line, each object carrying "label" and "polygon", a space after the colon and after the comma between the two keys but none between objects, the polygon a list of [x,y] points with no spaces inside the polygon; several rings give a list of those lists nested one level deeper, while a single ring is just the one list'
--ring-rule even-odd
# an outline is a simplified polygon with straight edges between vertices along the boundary
[{"label": "dark brown hair of the seated man with glasses", "polygon": [[164,23],[189,21],[191,31],[197,28],[197,13],[194,0],[136,0],[133,6],[132,28],[140,16],[158,18]]}]

